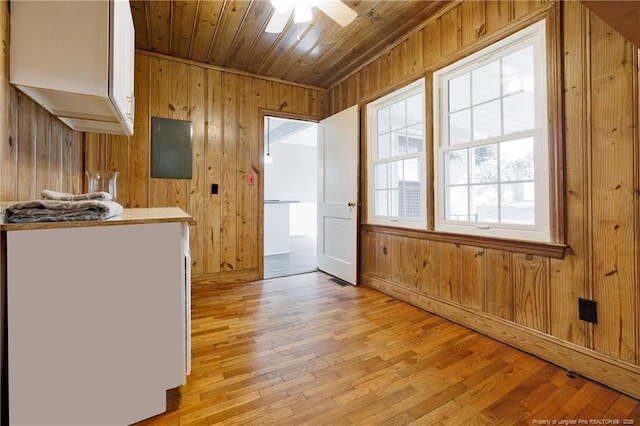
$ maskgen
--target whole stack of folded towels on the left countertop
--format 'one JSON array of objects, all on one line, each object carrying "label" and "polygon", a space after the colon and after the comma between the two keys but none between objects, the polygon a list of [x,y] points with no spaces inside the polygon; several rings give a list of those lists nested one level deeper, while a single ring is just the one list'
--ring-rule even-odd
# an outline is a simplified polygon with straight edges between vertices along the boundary
[{"label": "whole stack of folded towels on the left countertop", "polygon": [[105,220],[120,215],[123,210],[108,192],[67,194],[45,189],[40,195],[40,200],[24,201],[8,207],[6,221],[25,223]]}]

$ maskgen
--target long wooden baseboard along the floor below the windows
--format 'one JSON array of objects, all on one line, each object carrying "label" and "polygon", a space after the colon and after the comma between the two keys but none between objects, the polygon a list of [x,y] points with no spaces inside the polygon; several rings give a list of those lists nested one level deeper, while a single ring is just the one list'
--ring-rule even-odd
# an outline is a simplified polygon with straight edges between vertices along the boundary
[{"label": "long wooden baseboard along the floor below the windows", "polygon": [[640,366],[364,272],[360,283],[640,399]]}]

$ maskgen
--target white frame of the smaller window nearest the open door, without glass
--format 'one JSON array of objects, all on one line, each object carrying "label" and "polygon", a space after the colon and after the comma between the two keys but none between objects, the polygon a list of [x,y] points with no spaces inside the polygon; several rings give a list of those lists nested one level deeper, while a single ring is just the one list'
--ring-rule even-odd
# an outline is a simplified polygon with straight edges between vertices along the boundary
[{"label": "white frame of the smaller window nearest the open door, without glass", "polygon": [[[378,151],[378,133],[377,133],[377,124],[378,124],[378,111],[386,108],[387,106],[393,105],[398,101],[403,99],[408,99],[416,94],[422,94],[422,150],[418,151],[417,154],[405,154],[398,155],[389,158],[385,158],[384,160],[376,159],[376,153]],[[426,90],[426,78],[421,77],[411,83],[405,84],[404,86],[394,90],[393,92],[382,96],[378,99],[375,99],[366,105],[366,113],[367,113],[367,176],[368,176],[368,184],[367,184],[367,223],[372,225],[384,225],[384,226],[392,226],[392,227],[401,227],[401,228],[412,228],[412,229],[420,229],[427,230],[427,205],[428,205],[428,194],[427,194],[427,178],[429,176],[428,170],[431,166],[427,163],[427,151],[429,149],[428,143],[428,133],[427,133],[427,113],[426,113],[426,99],[427,99],[427,90]],[[407,138],[407,143],[408,143]],[[419,217],[410,218],[410,217],[396,217],[396,216],[380,216],[375,214],[375,166],[382,163],[391,163],[393,161],[400,161],[406,159],[417,158],[419,161],[419,193],[420,193],[420,215]]]}]

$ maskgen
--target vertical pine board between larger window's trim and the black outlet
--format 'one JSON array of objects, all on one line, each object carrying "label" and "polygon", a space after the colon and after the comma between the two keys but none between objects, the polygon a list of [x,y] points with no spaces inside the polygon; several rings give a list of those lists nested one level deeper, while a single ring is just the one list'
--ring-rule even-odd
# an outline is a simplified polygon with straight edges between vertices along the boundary
[{"label": "vertical pine board between larger window's trim and the black outlet", "polygon": [[590,132],[587,123],[588,40],[584,7],[565,3],[565,28],[575,34],[564,43],[565,182],[567,187],[567,243],[571,253],[551,260],[550,332],[554,336],[590,346],[587,323],[578,319],[578,298],[591,298],[587,280],[591,274],[589,185]]}]

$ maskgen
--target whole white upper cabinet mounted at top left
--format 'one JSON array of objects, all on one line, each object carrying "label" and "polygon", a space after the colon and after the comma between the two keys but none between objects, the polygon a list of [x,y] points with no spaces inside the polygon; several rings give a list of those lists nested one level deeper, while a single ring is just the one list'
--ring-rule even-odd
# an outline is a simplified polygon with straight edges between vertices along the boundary
[{"label": "whole white upper cabinet mounted at top left", "polygon": [[10,81],[73,130],[133,134],[128,0],[11,2]]}]

